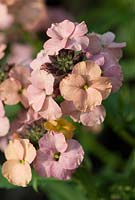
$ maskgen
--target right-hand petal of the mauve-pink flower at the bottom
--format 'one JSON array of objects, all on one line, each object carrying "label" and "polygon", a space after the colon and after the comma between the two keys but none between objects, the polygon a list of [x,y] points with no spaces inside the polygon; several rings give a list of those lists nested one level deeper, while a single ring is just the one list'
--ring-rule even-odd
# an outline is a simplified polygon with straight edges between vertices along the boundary
[{"label": "right-hand petal of the mauve-pink flower at the bottom", "polygon": [[67,140],[68,148],[59,158],[59,164],[62,168],[68,170],[76,169],[82,162],[84,151],[82,146],[76,140]]}]

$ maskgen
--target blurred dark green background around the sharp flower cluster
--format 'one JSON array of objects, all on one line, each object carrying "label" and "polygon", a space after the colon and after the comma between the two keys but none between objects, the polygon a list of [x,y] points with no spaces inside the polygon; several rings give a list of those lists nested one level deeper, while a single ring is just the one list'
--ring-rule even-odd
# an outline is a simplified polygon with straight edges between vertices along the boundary
[{"label": "blurred dark green background around the sharp flower cluster", "polygon": [[[135,1],[46,0],[39,10],[33,9],[32,1],[20,2],[23,6],[9,5],[20,23],[7,31],[10,41],[30,45],[34,57],[47,39],[45,30],[51,23],[64,19],[85,21],[89,32],[112,31],[117,42],[127,43],[121,60],[124,81],[122,88],[104,103],[107,116],[102,126],[84,129],[77,125],[75,137],[86,155],[73,180],[38,180],[34,176],[30,187],[22,189],[11,188],[0,177],[1,199],[135,200]],[[14,31],[16,35],[11,34]]]}]

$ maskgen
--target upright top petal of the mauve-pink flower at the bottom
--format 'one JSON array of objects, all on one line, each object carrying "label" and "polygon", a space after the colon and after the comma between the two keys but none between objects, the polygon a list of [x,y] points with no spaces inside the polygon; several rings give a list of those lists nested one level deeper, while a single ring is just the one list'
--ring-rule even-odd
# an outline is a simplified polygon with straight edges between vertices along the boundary
[{"label": "upright top petal of the mauve-pink flower at the bottom", "polygon": [[63,153],[67,149],[67,142],[62,133],[56,133],[54,134],[54,142],[55,142],[55,147],[58,152]]}]

